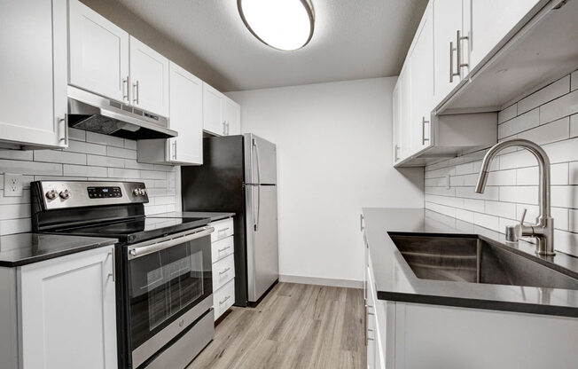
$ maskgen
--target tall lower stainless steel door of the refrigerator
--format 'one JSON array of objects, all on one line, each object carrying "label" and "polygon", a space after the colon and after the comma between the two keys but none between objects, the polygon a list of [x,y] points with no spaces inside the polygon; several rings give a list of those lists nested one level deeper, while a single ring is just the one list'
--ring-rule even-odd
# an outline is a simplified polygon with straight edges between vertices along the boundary
[{"label": "tall lower stainless steel door of the refrigerator", "polygon": [[246,258],[249,302],[279,278],[277,186],[246,186]]}]

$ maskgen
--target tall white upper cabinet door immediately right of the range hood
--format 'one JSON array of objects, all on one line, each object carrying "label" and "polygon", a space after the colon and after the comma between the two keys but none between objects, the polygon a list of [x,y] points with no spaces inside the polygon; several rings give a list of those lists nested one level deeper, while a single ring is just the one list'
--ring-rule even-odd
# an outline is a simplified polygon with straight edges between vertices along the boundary
[{"label": "tall white upper cabinet door immediately right of the range hood", "polygon": [[168,161],[203,163],[203,82],[170,63],[170,138]]}]

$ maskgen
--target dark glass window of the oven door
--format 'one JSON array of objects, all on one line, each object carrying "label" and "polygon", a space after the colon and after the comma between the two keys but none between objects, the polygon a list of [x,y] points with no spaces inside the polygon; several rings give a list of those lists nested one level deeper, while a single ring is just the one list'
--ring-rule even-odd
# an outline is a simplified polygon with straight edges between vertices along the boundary
[{"label": "dark glass window of the oven door", "polygon": [[212,293],[210,239],[195,239],[129,262],[132,349]]}]

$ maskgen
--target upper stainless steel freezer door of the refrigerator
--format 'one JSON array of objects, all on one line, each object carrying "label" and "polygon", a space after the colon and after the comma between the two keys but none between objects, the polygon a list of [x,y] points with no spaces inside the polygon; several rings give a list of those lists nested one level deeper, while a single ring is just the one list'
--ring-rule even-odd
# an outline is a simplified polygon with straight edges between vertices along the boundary
[{"label": "upper stainless steel freezer door of the refrigerator", "polygon": [[277,184],[277,147],[252,133],[245,135],[245,183]]}]

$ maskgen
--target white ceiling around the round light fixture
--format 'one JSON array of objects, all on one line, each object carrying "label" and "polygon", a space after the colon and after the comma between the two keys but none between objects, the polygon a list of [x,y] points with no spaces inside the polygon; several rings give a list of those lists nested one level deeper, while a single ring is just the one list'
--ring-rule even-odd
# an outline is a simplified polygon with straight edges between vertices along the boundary
[{"label": "white ceiling around the round light fixture", "polygon": [[277,51],[249,33],[235,0],[118,2],[214,69],[207,82],[224,91],[398,75],[427,4],[313,0],[310,43]]}]

